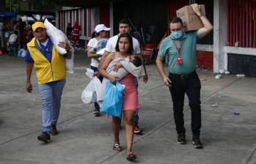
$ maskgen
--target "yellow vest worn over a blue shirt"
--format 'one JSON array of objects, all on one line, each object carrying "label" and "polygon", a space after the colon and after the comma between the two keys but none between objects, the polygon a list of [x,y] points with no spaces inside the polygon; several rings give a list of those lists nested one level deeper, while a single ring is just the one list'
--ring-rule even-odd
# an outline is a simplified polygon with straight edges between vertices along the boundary
[{"label": "yellow vest worn over a blue shirt", "polygon": [[51,62],[36,48],[35,37],[27,44],[30,56],[34,60],[34,69],[37,72],[38,83],[49,83],[66,78],[65,58],[52,49]]}]

